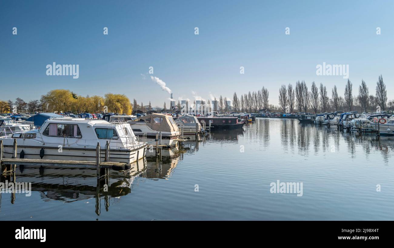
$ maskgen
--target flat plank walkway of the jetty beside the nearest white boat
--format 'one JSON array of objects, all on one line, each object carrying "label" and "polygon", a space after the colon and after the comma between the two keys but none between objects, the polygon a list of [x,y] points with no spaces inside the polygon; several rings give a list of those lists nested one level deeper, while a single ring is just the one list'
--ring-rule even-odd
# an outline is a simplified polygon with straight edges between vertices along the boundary
[{"label": "flat plank walkway of the jetty beside the nearest white boat", "polygon": [[[76,161],[76,160],[53,160],[53,159],[6,159],[1,160],[2,164],[23,164],[31,166],[60,166],[60,167],[79,167],[97,168],[96,161]],[[124,166],[122,162],[100,162],[100,168],[112,168],[113,165]]]}]

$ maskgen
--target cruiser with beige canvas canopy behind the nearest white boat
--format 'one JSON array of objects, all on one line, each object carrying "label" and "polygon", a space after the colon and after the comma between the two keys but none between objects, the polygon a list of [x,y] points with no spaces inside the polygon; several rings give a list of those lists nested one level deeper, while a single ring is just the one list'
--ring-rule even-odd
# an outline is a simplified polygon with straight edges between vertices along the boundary
[{"label": "cruiser with beige canvas canopy behind the nearest white boat", "polygon": [[136,135],[146,133],[149,145],[156,144],[156,134],[161,133],[162,139],[159,140],[160,145],[173,147],[177,145],[177,139],[180,132],[177,124],[170,115],[152,113],[150,115],[141,116],[139,121],[128,122]]}]

